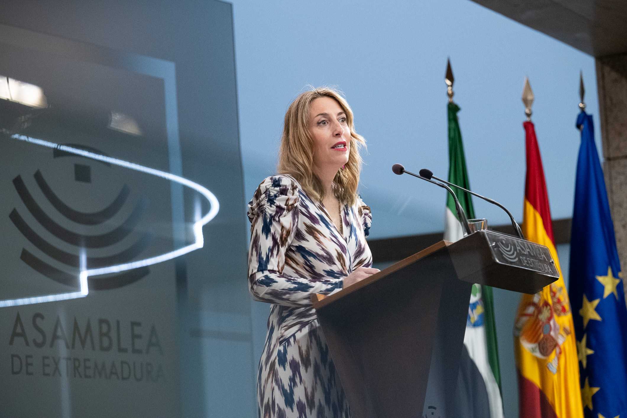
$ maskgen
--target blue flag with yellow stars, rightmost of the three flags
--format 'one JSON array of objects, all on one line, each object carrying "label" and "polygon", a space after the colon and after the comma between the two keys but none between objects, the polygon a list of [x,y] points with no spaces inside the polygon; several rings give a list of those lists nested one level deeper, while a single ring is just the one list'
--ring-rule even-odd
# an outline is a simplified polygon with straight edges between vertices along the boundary
[{"label": "blue flag with yellow stars, rightmost of the three flags", "polygon": [[592,116],[581,147],[572,214],[570,297],[586,418],[627,418],[627,308]]}]

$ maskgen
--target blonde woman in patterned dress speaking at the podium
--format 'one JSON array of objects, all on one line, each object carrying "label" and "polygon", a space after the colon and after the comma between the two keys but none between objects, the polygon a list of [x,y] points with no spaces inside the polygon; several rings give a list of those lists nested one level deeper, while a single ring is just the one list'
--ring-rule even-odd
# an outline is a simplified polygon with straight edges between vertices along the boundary
[{"label": "blonde woman in patterned dress speaking at the podium", "polygon": [[250,291],[272,304],[257,376],[260,417],[350,417],[310,296],[379,271],[366,243],[370,208],[357,196],[364,143],[337,91],[305,91],[285,113],[279,174],[248,203]]}]

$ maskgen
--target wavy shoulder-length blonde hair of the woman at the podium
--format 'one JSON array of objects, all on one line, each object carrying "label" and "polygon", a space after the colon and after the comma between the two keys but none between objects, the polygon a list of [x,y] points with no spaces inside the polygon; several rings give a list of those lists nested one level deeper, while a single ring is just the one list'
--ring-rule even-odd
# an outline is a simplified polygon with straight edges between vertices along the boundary
[{"label": "wavy shoulder-length blonde hair of the woman at the podium", "polygon": [[278,173],[291,175],[311,199],[322,201],[324,198],[322,182],[313,170],[314,147],[308,128],[311,103],[320,97],[335,99],[346,114],[346,122],[350,128],[349,160],[344,169],[337,170],[333,185],[335,197],[343,204],[352,206],[357,197],[362,165],[359,150],[366,146],[366,140],[355,132],[352,110],[345,98],[334,88],[324,86],[300,93],[287,109],[278,154]]}]

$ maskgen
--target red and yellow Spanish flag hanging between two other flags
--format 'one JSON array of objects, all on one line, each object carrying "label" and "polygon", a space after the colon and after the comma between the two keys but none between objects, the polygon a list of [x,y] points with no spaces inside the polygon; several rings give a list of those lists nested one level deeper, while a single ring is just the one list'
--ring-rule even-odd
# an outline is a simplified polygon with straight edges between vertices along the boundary
[{"label": "red and yellow Spanish flag hanging between two other flags", "polygon": [[561,275],[549,196],[534,124],[525,122],[527,178],[522,231],[551,251],[559,280],[522,295],[514,323],[520,418],[582,418],[579,360],[571,304]]}]

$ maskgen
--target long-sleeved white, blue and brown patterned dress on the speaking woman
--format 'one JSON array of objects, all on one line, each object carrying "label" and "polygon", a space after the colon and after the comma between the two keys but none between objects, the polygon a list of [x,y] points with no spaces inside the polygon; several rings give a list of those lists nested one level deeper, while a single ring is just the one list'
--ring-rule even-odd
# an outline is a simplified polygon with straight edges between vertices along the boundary
[{"label": "long-sleeved white, blue and brown patterned dress on the speaking woman", "polygon": [[248,203],[250,291],[272,304],[257,376],[260,418],[350,418],[310,301],[341,290],[354,269],[372,266],[370,208],[358,198],[341,212],[344,234],[288,175],[263,180]]}]

